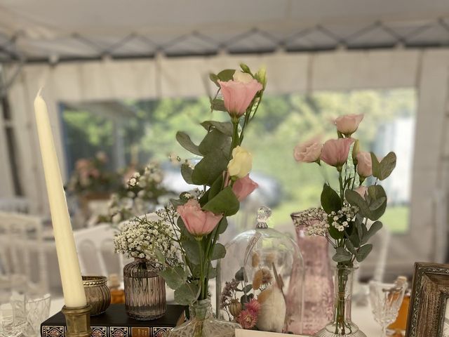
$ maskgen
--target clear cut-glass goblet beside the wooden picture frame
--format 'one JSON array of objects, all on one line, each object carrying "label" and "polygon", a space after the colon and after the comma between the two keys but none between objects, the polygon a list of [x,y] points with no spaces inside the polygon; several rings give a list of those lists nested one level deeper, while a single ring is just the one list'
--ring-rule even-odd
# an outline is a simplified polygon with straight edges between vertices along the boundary
[{"label": "clear cut-glass goblet beside the wooden picture frame", "polygon": [[382,337],[387,336],[387,326],[398,316],[407,284],[370,282],[370,304],[374,319],[382,326]]}]

